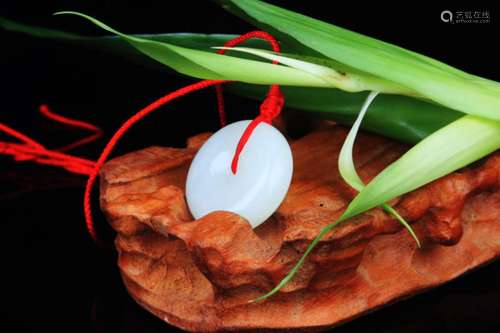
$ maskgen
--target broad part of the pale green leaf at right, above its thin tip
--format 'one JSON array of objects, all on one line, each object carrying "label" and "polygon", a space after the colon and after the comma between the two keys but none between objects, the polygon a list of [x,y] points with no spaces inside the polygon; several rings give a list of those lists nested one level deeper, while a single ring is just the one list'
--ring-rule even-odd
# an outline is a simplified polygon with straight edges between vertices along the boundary
[{"label": "broad part of the pale green leaf at right, above its thin tip", "polygon": [[464,116],[436,131],[384,169],[351,202],[349,214],[359,214],[413,191],[499,148],[500,122]]}]

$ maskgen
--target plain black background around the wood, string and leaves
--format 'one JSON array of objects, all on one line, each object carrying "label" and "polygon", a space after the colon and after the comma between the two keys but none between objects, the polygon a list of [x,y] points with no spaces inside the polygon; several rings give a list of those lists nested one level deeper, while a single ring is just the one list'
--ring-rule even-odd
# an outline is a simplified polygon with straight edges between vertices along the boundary
[{"label": "plain black background around the wood, string and leaves", "polygon": [[[491,5],[272,2],[500,80],[496,45],[500,11]],[[444,9],[488,10],[491,22],[445,24],[439,18]],[[210,1],[3,0],[0,4],[0,15],[11,19],[88,35],[101,33],[80,19],[51,16],[59,10],[83,11],[128,33],[244,33],[253,29]],[[80,132],[38,115],[38,105],[48,103],[55,112],[104,129],[104,139],[74,152],[88,158],[96,158],[106,139],[134,112],[190,82],[96,50],[4,31],[0,34],[0,122],[49,147],[79,137]],[[255,102],[232,96],[226,100],[230,121],[256,113]],[[142,121],[114,154],[152,144],[181,146],[189,135],[216,130],[217,124],[213,93],[199,92]],[[163,322],[128,297],[113,249],[97,248],[88,237],[82,215],[84,183],[81,176],[52,167],[14,163],[0,156],[1,325],[14,325],[16,332],[165,331]],[[94,215],[99,233],[111,242],[113,233],[102,214]],[[336,331],[498,332],[499,300],[500,265],[493,263]]]}]

